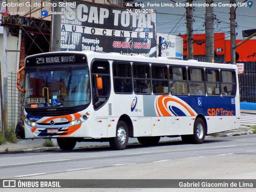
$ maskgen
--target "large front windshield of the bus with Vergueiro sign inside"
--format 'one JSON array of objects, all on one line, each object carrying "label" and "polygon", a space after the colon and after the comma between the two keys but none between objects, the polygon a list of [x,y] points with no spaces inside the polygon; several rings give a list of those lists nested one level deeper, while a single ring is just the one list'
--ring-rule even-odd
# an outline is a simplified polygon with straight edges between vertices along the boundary
[{"label": "large front windshield of the bus with Vergueiro sign inside", "polygon": [[25,107],[66,107],[91,101],[88,69],[40,70],[26,73]]}]

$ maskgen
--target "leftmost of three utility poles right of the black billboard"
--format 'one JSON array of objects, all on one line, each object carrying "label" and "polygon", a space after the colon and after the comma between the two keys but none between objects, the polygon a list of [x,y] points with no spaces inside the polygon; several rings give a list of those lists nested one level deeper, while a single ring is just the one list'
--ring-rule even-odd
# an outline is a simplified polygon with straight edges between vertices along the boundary
[{"label": "leftmost of three utility poles right of the black billboard", "polygon": [[[193,0],[187,0],[189,4],[192,4]],[[188,59],[193,59],[193,6],[188,6],[187,12],[187,36],[188,36]]]}]

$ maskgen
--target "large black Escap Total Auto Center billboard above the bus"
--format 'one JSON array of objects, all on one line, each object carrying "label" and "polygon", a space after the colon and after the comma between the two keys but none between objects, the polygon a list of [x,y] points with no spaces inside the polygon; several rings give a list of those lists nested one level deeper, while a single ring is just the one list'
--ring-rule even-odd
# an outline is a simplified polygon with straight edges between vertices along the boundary
[{"label": "large black Escap Total Auto Center billboard above the bus", "polygon": [[[156,56],[156,13],[76,1],[61,15],[61,51],[92,50]],[[54,19],[54,16],[53,16]]]}]

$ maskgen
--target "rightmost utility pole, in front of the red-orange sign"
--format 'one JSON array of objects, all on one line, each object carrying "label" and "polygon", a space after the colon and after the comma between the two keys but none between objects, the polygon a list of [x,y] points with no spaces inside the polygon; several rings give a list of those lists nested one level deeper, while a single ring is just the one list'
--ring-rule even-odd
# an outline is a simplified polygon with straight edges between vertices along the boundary
[{"label": "rightmost utility pole, in front of the red-orange sign", "polygon": [[[234,4],[234,0],[230,0],[230,4]],[[230,64],[236,64],[236,14],[234,7],[230,6]]]}]

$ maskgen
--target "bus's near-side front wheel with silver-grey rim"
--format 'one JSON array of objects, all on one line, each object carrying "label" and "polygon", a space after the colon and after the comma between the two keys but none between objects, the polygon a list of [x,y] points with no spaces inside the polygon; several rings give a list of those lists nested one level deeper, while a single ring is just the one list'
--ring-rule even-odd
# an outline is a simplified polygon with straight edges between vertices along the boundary
[{"label": "bus's near-side front wheel with silver-grey rim", "polygon": [[109,138],[110,147],[114,150],[124,150],[128,144],[128,128],[124,121],[118,121],[116,136]]}]

